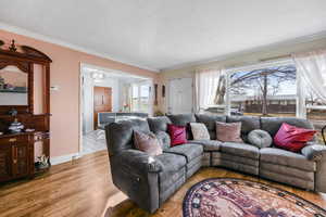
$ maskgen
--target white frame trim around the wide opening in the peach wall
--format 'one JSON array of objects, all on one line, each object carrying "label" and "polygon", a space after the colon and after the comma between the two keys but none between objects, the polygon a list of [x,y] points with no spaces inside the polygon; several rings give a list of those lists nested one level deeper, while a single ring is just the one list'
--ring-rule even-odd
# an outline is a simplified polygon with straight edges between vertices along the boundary
[{"label": "white frame trim around the wide opening in the peach wall", "polygon": [[135,77],[139,77],[139,78],[146,78],[148,79],[148,81],[150,82],[150,86],[151,86],[151,95],[150,95],[150,111],[149,111],[149,115],[153,115],[154,114],[154,79],[151,78],[151,77],[146,77],[146,76],[138,76],[138,75],[134,75],[134,74],[130,74],[130,73],[126,73],[126,72],[122,72],[122,71],[115,71],[115,69],[111,69],[111,68],[105,68],[105,67],[101,67],[101,66],[97,66],[97,65],[92,65],[92,64],[88,64],[88,63],[83,63],[80,62],[79,63],[79,107],[78,107],[78,113],[79,113],[79,130],[78,130],[78,140],[79,140],[79,145],[78,145],[78,156],[76,157],[80,157],[82,154],[83,154],[83,127],[84,127],[84,124],[83,124],[83,116],[84,116],[84,93],[83,93],[83,90],[84,90],[84,76],[85,76],[85,73],[84,73],[84,68],[85,67],[90,67],[90,68],[95,68],[95,69],[100,69],[100,71],[103,71],[103,72],[106,72],[106,73],[110,73],[110,72],[118,72],[118,74],[121,75],[129,75],[129,76],[135,76]]}]

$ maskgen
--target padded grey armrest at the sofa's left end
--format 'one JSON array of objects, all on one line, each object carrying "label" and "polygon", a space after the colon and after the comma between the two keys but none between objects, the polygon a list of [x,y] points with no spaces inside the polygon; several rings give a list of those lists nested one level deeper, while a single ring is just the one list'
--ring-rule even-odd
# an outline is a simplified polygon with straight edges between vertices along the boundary
[{"label": "padded grey armrest at the sofa's left end", "polygon": [[137,174],[160,173],[163,169],[163,164],[158,158],[139,150],[125,150],[115,158],[122,167],[129,167]]}]

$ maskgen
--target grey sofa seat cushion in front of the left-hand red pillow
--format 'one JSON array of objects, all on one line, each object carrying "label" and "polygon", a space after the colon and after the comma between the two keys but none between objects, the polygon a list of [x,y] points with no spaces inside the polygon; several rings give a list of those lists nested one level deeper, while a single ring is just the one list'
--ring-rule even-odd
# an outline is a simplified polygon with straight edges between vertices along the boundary
[{"label": "grey sofa seat cushion in front of the left-hand red pillow", "polygon": [[203,154],[203,148],[199,144],[186,143],[183,145],[170,148],[164,152],[183,155],[187,158],[187,162],[191,162],[193,158]]}]

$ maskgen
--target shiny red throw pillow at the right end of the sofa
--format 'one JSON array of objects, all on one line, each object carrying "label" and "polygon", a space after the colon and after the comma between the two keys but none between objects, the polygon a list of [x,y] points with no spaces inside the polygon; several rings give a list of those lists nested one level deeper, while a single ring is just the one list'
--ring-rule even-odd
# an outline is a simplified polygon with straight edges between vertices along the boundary
[{"label": "shiny red throw pillow at the right end of the sofa", "polygon": [[274,137],[274,143],[279,149],[300,152],[312,140],[316,130],[304,129],[283,123]]}]

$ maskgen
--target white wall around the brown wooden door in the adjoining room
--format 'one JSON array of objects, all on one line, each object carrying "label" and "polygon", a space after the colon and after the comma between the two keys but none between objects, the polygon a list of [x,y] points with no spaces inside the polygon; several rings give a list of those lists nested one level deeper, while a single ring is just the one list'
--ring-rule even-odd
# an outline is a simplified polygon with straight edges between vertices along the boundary
[{"label": "white wall around the brown wooden door in the adjoining room", "polygon": [[112,112],[118,112],[120,108],[120,81],[117,78],[105,78],[100,82],[95,82],[89,73],[84,74],[84,110],[83,110],[83,132],[87,133],[93,130],[93,87],[112,88]]}]

